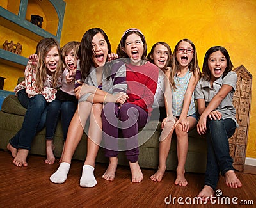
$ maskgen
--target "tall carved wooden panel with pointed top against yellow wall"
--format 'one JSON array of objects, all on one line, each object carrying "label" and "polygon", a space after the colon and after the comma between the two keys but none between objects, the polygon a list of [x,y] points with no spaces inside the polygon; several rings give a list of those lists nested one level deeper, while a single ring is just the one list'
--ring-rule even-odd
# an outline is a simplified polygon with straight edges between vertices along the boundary
[{"label": "tall carved wooden panel with pointed top against yellow wall", "polygon": [[243,65],[235,68],[234,71],[237,74],[237,83],[233,104],[236,108],[236,119],[239,128],[236,129],[236,132],[228,141],[230,156],[234,160],[234,168],[243,171],[252,99],[252,74]]}]

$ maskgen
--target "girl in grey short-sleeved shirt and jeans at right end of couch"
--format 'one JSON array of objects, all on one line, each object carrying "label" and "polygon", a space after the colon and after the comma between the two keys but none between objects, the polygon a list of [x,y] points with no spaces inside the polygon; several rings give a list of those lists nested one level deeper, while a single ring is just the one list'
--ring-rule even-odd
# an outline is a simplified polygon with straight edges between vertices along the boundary
[{"label": "girl in grey short-sleeved shirt and jeans at right end of couch", "polygon": [[232,104],[237,81],[232,68],[227,50],[221,46],[211,47],[204,57],[202,79],[196,85],[195,99],[200,113],[197,131],[207,136],[205,185],[198,194],[202,200],[209,200],[214,195],[219,172],[224,175],[228,187],[242,186],[234,172],[228,145],[228,138],[239,127]]}]

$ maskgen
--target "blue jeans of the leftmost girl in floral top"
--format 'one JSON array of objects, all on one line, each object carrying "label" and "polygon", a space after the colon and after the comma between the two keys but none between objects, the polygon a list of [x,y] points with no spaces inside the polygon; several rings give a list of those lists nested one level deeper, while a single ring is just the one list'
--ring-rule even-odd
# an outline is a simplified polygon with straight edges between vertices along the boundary
[{"label": "blue jeans of the leftmost girl in floral top", "polygon": [[20,104],[27,108],[21,129],[10,139],[14,148],[31,149],[31,143],[36,132],[44,128],[46,120],[47,102],[42,95],[35,95],[29,98],[25,89],[18,93]]}]

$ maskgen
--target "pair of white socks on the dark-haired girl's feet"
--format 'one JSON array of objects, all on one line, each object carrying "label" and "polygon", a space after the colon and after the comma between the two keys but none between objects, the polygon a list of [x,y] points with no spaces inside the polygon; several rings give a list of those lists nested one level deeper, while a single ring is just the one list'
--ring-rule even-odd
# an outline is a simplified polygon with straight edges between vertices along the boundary
[{"label": "pair of white socks on the dark-haired girl's feet", "polygon": [[[67,175],[70,169],[70,164],[62,162],[58,170],[50,177],[51,182],[55,184],[63,184],[67,180]],[[84,164],[82,177],[80,179],[80,186],[93,187],[97,184],[97,180],[94,177],[94,168],[88,164]]]}]

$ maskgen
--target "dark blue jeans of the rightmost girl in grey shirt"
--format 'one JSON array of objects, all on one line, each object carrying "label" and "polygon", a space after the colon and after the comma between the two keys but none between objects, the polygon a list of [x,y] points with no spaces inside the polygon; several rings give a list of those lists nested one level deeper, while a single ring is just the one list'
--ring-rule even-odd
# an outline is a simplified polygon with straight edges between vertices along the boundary
[{"label": "dark blue jeans of the rightmost girl in grey shirt", "polygon": [[224,175],[228,170],[234,170],[233,159],[229,154],[230,138],[236,131],[236,123],[231,118],[225,120],[207,120],[207,168],[205,185],[216,189],[219,173]]}]

